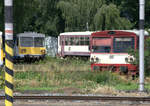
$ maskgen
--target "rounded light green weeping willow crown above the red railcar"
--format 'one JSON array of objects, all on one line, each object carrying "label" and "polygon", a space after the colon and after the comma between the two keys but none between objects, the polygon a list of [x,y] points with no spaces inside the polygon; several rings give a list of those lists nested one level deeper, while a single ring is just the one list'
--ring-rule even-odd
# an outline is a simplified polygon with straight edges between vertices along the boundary
[{"label": "rounded light green weeping willow crown above the red railcar", "polygon": [[120,17],[120,11],[114,4],[104,4],[99,8],[94,17],[94,24],[96,30],[119,30],[132,27],[128,19]]}]

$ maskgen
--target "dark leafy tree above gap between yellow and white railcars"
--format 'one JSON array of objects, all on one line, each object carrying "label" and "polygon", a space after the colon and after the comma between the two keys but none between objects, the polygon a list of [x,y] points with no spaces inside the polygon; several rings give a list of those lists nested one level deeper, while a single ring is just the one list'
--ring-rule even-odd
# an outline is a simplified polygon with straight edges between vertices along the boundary
[{"label": "dark leafy tree above gap between yellow and white railcars", "polygon": [[59,33],[60,27],[58,24],[63,22],[59,17],[59,11],[56,9],[56,4],[59,0],[35,0],[35,11],[24,25],[26,31],[36,31],[47,35],[56,36]]}]

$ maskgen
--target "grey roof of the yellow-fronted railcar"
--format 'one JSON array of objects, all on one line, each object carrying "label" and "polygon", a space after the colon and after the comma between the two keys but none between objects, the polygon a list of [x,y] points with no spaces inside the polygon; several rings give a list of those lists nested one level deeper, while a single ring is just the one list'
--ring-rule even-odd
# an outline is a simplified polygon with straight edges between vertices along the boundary
[{"label": "grey roof of the yellow-fronted railcar", "polygon": [[17,37],[45,37],[45,35],[36,32],[25,32],[17,34]]}]

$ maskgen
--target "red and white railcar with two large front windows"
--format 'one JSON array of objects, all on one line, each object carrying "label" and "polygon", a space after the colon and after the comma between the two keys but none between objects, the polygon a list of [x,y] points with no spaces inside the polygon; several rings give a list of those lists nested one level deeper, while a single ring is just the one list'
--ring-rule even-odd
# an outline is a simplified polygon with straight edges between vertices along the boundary
[{"label": "red and white railcar with two large front windows", "polygon": [[[112,30],[92,33],[90,39],[91,68],[111,69],[135,75],[137,67],[130,62],[134,57],[128,54],[129,50],[138,48],[137,30]],[[145,35],[148,32],[145,31]]]}]

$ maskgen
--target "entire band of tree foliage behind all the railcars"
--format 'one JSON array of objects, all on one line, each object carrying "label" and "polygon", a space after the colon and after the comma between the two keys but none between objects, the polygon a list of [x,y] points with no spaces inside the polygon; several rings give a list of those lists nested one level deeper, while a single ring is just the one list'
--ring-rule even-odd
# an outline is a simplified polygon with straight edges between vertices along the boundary
[{"label": "entire band of tree foliage behind all the railcars", "polygon": [[[36,31],[58,36],[64,31],[137,29],[138,0],[13,0],[14,32]],[[145,26],[150,27],[150,1],[145,0]],[[4,0],[0,1],[4,30]]]}]

